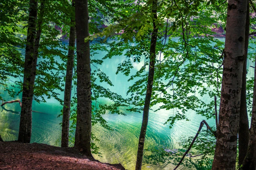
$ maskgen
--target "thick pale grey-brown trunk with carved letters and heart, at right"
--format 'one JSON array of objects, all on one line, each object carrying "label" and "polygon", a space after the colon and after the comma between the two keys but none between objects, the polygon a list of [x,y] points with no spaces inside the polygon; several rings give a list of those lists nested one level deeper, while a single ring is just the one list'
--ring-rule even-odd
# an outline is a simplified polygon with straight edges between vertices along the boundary
[{"label": "thick pale grey-brown trunk with carved letters and heart, at right", "polygon": [[235,170],[247,0],[229,0],[216,149],[212,170]]}]

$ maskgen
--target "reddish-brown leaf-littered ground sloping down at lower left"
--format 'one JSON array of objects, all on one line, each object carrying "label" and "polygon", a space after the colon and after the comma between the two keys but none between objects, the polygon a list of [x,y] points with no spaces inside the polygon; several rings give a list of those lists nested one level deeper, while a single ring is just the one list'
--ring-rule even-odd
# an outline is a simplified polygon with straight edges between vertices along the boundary
[{"label": "reddish-brown leaf-littered ground sloping down at lower left", "polygon": [[120,163],[109,164],[88,159],[74,148],[16,141],[0,142],[0,169],[125,170]]}]

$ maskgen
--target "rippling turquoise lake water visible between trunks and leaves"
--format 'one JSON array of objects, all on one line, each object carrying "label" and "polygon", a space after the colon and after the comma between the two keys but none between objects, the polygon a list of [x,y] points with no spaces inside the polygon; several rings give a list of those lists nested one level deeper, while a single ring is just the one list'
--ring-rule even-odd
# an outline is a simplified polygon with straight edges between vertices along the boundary
[{"label": "rippling turquoise lake water visible between trunks and leaves", "polygon": [[[223,40],[223,39],[222,39]],[[94,59],[101,59],[106,52],[100,52],[94,56]],[[124,56],[117,56],[112,59],[107,59],[99,68],[109,76],[110,80],[114,84],[113,87],[102,83],[101,85],[109,88],[111,91],[116,92],[122,96],[126,96],[128,86],[133,82],[128,82],[128,78],[122,74],[116,75],[116,67],[125,59]],[[143,65],[143,61],[140,63],[133,63],[133,71],[135,73]],[[254,63],[248,61],[247,77],[253,77],[253,68],[249,67]],[[94,70],[92,66],[92,70]],[[3,92],[0,89],[0,92]],[[21,99],[21,95],[11,98],[7,93],[3,92],[1,96],[9,101],[14,99]],[[63,98],[63,93],[60,97]],[[204,96],[206,103],[210,102],[211,98]],[[54,99],[46,99],[47,103],[33,102],[32,110],[42,113],[33,112],[32,114],[32,137],[31,142],[45,143],[49,145],[60,146],[61,127],[60,122],[62,117],[57,118],[60,114],[62,106],[58,101]],[[101,102],[108,103],[110,101],[102,99]],[[154,106],[156,109],[158,106]],[[140,133],[142,114],[127,112],[125,108],[120,108],[127,116],[117,114],[106,114],[103,116],[113,131],[106,130],[99,125],[95,125],[92,128],[93,133],[100,140],[96,142],[100,148],[101,156],[94,155],[96,159],[101,162],[108,163],[121,163],[126,169],[134,169],[136,163],[138,137]],[[20,120],[20,106],[18,103],[6,104],[0,108],[0,134],[6,141],[17,140]],[[149,146],[159,145],[165,143],[170,149],[177,149],[179,138],[181,136],[194,136],[198,130],[198,126],[203,119],[203,116],[196,115],[194,111],[188,111],[187,117],[190,121],[179,120],[176,121],[173,128],[169,129],[169,125],[164,122],[173,115],[172,110],[160,110],[157,112],[150,111],[148,129],[146,135],[145,148]],[[215,120],[207,120],[210,126],[214,126]],[[204,127],[205,128],[205,127]],[[57,142],[56,142],[57,141]],[[174,166],[171,164],[149,165],[144,164],[143,169],[171,169]],[[187,169],[187,168],[183,168]]]}]

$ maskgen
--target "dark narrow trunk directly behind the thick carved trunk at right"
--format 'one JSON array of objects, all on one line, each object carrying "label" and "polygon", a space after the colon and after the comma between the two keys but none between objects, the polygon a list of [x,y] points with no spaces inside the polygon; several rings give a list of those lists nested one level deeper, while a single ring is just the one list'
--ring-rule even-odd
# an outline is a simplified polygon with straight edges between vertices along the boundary
[{"label": "dark narrow trunk directly behind the thick carved trunk at right", "polygon": [[241,103],[240,103],[240,120],[239,120],[239,131],[238,131],[238,164],[243,164],[246,156],[248,143],[249,143],[249,121],[247,114],[246,104],[246,73],[247,73],[247,52],[249,45],[249,31],[250,31],[250,8],[249,2],[247,2],[247,14],[246,14],[246,25],[245,25],[245,53],[244,53],[244,65],[243,65],[243,76],[242,76],[242,90],[241,90]]}]

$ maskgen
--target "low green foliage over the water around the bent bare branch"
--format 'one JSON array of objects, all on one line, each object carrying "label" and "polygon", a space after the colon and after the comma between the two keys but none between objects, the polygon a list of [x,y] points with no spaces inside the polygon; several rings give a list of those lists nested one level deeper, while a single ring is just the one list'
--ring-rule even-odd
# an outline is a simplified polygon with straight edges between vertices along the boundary
[{"label": "low green foliage over the water around the bent bare branch", "polygon": [[[180,138],[179,148],[170,149],[164,145],[149,148],[151,154],[145,155],[145,163],[172,163],[178,164],[186,149],[188,149],[194,136]],[[192,149],[185,156],[181,165],[196,168],[197,170],[210,170],[214,156],[216,138],[209,130],[202,130],[196,138]]]}]

